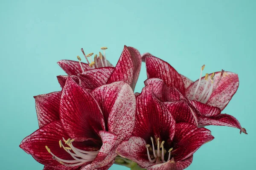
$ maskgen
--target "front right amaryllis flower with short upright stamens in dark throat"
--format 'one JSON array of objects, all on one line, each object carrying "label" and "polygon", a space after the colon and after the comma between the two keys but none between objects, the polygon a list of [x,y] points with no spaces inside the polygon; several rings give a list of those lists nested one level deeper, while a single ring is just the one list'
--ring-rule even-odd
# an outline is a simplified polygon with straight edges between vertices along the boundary
[{"label": "front right amaryllis flower with short upright stamens in dark throat", "polygon": [[176,123],[152,88],[146,86],[136,97],[133,136],[123,141],[116,153],[147,170],[183,170],[192,163],[193,153],[214,137],[204,127]]}]

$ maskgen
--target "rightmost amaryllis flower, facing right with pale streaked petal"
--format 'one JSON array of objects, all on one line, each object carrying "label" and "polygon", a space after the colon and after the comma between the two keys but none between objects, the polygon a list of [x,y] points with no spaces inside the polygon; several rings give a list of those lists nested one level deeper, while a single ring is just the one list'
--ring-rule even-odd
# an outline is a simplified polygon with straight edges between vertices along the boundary
[{"label": "rightmost amaryllis flower, facing right with pale streaked petal", "polygon": [[[196,119],[198,119],[199,126],[222,125],[237,127],[240,129],[240,133],[246,133],[246,130],[241,127],[236,118],[228,114],[220,114],[237,91],[239,85],[237,74],[221,71],[206,74],[205,77],[202,77],[203,65],[200,78],[192,82],[192,80],[179,74],[169,63],[149,53],[144,54],[142,59],[146,62],[148,79],[159,78],[164,82],[160,82],[162,86],[157,88],[160,89],[158,93],[166,93],[164,91],[167,88],[163,87],[164,84],[168,88],[172,87],[171,91],[178,90],[180,96],[182,96],[181,98],[183,98],[182,100],[186,101],[198,113]],[[151,81],[152,84],[156,83],[154,81]],[[184,99],[184,96],[186,99]]]}]

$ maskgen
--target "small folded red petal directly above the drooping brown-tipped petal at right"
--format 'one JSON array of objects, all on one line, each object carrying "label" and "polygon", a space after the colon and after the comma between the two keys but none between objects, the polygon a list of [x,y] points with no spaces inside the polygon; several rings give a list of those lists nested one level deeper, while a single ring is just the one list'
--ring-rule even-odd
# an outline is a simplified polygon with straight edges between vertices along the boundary
[{"label": "small folded red petal directly above the drooping brown-tipped petal at right", "polygon": [[221,114],[221,109],[215,106],[207,105],[195,100],[188,100],[190,106],[194,108],[201,116],[217,116]]}]

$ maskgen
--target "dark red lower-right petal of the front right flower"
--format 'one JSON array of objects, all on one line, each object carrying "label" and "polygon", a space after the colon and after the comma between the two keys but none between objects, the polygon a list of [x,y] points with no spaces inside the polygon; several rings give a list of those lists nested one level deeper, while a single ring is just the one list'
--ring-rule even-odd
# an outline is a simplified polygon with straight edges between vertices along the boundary
[{"label": "dark red lower-right petal of the front right flower", "polygon": [[211,141],[214,137],[211,131],[189,123],[177,123],[174,136],[172,155],[175,161],[181,161],[192,156],[203,144]]}]

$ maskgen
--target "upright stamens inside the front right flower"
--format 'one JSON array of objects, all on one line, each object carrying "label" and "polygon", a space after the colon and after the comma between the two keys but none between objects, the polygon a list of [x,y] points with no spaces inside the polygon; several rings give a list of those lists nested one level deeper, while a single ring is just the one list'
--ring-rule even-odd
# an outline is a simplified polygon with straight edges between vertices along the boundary
[{"label": "upright stamens inside the front right flower", "polygon": [[[166,162],[164,160],[164,156],[166,154],[166,149],[164,149],[164,147],[163,147],[164,141],[160,144],[160,142],[159,142],[160,139],[157,138],[157,150],[155,150],[155,148],[154,148],[154,139],[152,137],[150,137],[150,139],[151,139],[151,142],[152,142],[152,147],[150,147],[150,144],[146,145],[147,153],[148,153],[148,160],[150,162],[152,162],[152,163],[156,162],[156,164],[159,164],[160,161],[162,161],[163,163]],[[160,150],[160,148],[162,148],[162,150]],[[169,156],[168,156],[167,161],[169,161],[171,159],[171,151],[172,151],[172,149],[173,148],[170,148],[168,150]],[[149,150],[153,151],[153,155],[150,155]]]}]

